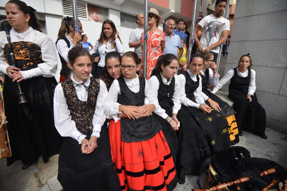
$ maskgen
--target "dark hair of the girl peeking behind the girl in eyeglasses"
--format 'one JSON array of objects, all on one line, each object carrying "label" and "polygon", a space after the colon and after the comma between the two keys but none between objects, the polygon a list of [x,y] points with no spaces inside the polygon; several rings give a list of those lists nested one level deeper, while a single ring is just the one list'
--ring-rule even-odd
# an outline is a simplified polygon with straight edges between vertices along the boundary
[{"label": "dark hair of the girl peeking behind the girl in eyeglasses", "polygon": [[110,76],[110,74],[108,73],[107,67],[106,67],[108,59],[111,59],[111,58],[116,58],[121,63],[121,54],[119,52],[115,52],[115,51],[108,52],[106,54],[105,66],[104,66],[99,78],[105,82],[108,90],[110,89],[110,86],[112,85],[112,83],[114,81],[114,78],[112,76]]}]

